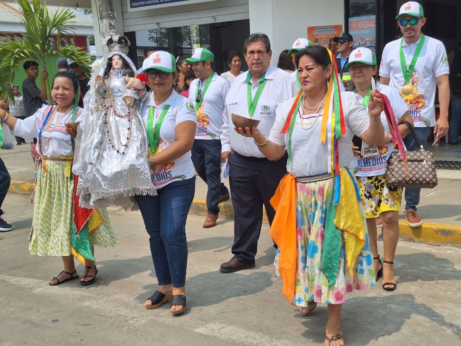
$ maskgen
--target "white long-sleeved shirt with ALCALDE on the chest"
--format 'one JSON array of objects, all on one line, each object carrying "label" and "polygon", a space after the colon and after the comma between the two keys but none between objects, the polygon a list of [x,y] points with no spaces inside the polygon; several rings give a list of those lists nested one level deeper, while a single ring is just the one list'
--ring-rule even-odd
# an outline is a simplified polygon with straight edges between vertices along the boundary
[{"label": "white long-sleeved shirt with ALCALDE on the chest", "polygon": [[[222,152],[235,150],[243,156],[265,157],[254,144],[253,138],[247,138],[234,131],[231,114],[248,117],[247,76],[249,71],[235,78],[226,97],[225,119],[221,133]],[[261,92],[255,108],[254,118],[261,120],[258,129],[269,137],[275,121],[275,110],[280,102],[294,97],[299,91],[292,76],[277,67],[269,66],[266,72],[266,85]],[[251,97],[254,98],[260,85],[258,80],[251,83]]]}]

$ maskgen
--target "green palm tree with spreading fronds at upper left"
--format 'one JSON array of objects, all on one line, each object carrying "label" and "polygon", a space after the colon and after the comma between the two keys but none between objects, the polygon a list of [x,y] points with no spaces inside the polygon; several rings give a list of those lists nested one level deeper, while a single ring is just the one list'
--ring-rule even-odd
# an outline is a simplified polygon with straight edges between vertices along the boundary
[{"label": "green palm tree with spreading fronds at upper left", "polygon": [[[10,85],[19,66],[27,60],[37,61],[43,68],[53,57],[64,57],[74,60],[83,67],[89,76],[89,55],[79,47],[69,42],[68,36],[75,31],[71,26],[73,15],[69,9],[60,9],[49,14],[45,2],[32,0],[18,0],[21,22],[25,33],[22,37],[10,35],[0,37],[0,96],[12,100]],[[33,8],[32,8],[33,7]],[[56,36],[54,42],[49,38]],[[48,79],[45,81],[48,104],[52,104],[51,90]]]}]

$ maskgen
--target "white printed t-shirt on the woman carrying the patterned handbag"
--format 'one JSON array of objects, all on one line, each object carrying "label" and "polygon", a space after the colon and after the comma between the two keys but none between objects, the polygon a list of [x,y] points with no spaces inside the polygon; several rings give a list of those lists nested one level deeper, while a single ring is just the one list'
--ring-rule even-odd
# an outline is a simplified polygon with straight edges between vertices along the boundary
[{"label": "white printed t-shirt on the woman carrying the patterned handbag", "polygon": [[[391,88],[388,85],[376,83],[376,89],[382,92],[389,98],[390,106],[394,112],[394,116],[398,119],[408,111],[407,104],[403,101],[397,89]],[[363,101],[363,97],[357,94],[359,101]],[[368,109],[368,107],[367,107]],[[381,122],[384,126],[384,133],[389,133],[389,124],[386,119],[384,111],[381,112]],[[368,145],[362,142],[361,157],[355,157],[350,162],[351,169],[357,177],[371,177],[373,175],[380,175],[386,173],[387,160],[394,151],[392,143],[380,146]]]}]

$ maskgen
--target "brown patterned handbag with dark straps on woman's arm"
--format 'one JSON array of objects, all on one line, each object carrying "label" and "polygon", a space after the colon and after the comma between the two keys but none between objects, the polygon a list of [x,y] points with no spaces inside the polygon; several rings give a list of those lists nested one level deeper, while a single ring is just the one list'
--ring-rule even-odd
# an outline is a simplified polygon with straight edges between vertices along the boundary
[{"label": "brown patterned handbag with dark straps on woman's arm", "polygon": [[432,189],[438,184],[434,157],[430,151],[423,148],[413,126],[408,121],[402,121],[400,124],[408,126],[420,149],[407,151],[408,173],[405,170],[402,155],[398,151],[390,155],[387,161],[386,185],[394,188],[416,187]]}]

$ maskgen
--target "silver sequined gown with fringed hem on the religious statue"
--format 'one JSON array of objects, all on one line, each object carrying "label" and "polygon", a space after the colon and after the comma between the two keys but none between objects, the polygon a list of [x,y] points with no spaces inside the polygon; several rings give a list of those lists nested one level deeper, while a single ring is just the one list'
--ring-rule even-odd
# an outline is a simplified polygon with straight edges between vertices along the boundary
[{"label": "silver sequined gown with fringed hem on the religious statue", "polygon": [[[136,209],[133,196],[155,194],[148,167],[148,140],[141,105],[147,93],[125,90],[122,70],[111,70],[96,89],[102,112],[91,149],[81,157],[77,194],[83,207],[122,206]],[[123,96],[135,97],[130,107]]]}]

